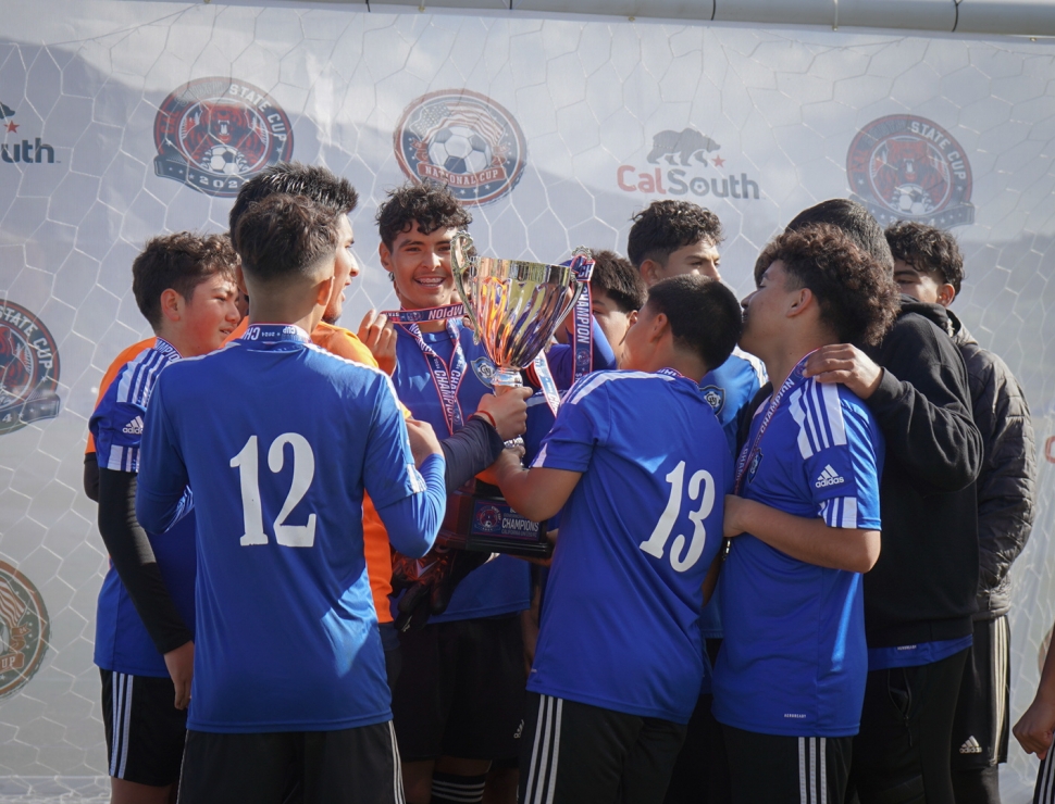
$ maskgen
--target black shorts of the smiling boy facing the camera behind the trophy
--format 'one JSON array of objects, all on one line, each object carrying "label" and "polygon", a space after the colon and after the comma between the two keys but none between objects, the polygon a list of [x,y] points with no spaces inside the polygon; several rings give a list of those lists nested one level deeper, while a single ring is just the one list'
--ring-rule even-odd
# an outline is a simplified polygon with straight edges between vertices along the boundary
[{"label": "black shorts of the smiling boy facing the camera behind the trophy", "polygon": [[519,755],[526,683],[520,614],[431,624],[399,641],[392,713],[404,762]]}]

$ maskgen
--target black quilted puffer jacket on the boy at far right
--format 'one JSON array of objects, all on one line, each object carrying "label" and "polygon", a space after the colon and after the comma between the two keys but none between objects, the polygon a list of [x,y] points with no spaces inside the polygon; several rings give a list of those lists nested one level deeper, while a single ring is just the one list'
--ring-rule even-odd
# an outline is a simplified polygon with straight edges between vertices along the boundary
[{"label": "black quilted puffer jacket on the boy at far right", "polygon": [[1010,608],[1007,570],[1026,547],[1033,525],[1033,426],[1026,397],[1007,364],[978,346],[952,311],[948,323],[967,364],[971,411],[984,444],[978,476],[979,611],[975,618],[989,619]]}]

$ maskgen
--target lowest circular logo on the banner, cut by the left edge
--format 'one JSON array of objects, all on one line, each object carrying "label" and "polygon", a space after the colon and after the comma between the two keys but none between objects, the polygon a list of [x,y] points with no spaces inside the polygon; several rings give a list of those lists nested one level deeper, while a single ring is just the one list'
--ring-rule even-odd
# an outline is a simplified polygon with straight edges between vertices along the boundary
[{"label": "lowest circular logo on the banner, cut by the left edge", "polygon": [[40,592],[0,561],[0,699],[33,677],[48,650],[50,621]]}]

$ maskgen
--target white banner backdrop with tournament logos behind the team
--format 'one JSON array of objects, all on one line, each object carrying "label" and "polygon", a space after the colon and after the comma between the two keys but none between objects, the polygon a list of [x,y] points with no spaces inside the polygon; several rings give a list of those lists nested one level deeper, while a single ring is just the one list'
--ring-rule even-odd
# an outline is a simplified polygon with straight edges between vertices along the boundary
[{"label": "white banner backdrop with tournament logos behind the team", "polygon": [[[158,233],[225,229],[245,176],[289,155],[361,193],[352,329],[395,303],[373,215],[408,173],[458,188],[476,242],[505,257],[624,251],[636,210],[695,200],[722,218],[722,272],[741,293],[760,247],[826,198],[952,227],[968,272],[954,309],[1025,386],[1041,455],[1038,523],[1014,571],[1017,718],[1055,612],[1052,75],[1052,43],[1025,39],[336,7],[5,9],[0,794],[86,790],[105,774],[91,651],[107,558],[82,455],[102,372],[148,334],[132,260]],[[1028,800],[1034,767],[1013,741],[1007,801]]]}]

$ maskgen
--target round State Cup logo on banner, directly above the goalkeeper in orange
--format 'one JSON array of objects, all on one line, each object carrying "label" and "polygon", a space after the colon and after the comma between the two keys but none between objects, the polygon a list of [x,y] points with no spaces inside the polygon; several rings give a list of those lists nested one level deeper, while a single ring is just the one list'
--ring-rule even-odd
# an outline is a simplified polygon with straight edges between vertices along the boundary
[{"label": "round State Cup logo on banner, directly above the goalkeeper in orange", "polygon": [[172,92],[153,121],[159,176],[234,198],[269,165],[293,156],[289,117],[262,89],[198,78]]}]

